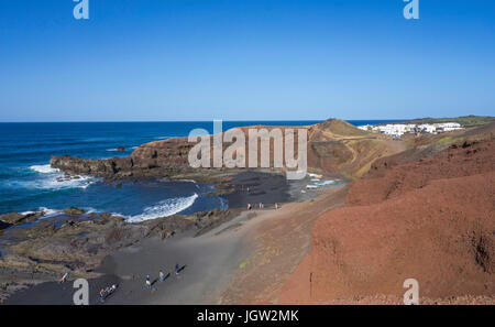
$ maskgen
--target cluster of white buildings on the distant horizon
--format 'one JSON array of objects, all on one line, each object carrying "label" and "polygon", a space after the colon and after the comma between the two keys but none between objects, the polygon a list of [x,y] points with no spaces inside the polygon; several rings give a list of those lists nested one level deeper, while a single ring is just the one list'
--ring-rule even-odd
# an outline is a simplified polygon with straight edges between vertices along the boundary
[{"label": "cluster of white buildings on the distant horizon", "polygon": [[387,134],[395,138],[400,138],[403,134],[406,133],[438,134],[442,132],[462,130],[463,128],[458,122],[440,122],[440,123],[422,123],[422,124],[415,124],[415,123],[387,123],[378,126],[366,124],[360,126],[359,129],[364,131],[372,131],[375,133]]}]

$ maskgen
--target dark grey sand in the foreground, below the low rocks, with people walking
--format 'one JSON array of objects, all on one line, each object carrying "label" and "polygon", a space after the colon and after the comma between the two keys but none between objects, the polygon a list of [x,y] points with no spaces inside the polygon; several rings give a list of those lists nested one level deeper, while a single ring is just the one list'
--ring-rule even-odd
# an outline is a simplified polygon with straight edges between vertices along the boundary
[{"label": "dark grey sand in the foreground, below the low rocks, with people walking", "polygon": [[[107,257],[98,270],[106,275],[88,281],[90,304],[98,304],[99,291],[113,283],[119,288],[106,304],[211,304],[249,252],[235,230],[219,232],[245,219],[246,214],[241,214],[197,238],[191,230],[164,241],[146,239]],[[182,268],[179,275],[175,274],[176,263]],[[163,283],[157,281],[160,270],[166,275]],[[152,290],[145,287],[146,274],[153,282]],[[72,285],[72,281],[63,285],[43,283],[15,293],[6,304],[70,305],[75,292]]]}]

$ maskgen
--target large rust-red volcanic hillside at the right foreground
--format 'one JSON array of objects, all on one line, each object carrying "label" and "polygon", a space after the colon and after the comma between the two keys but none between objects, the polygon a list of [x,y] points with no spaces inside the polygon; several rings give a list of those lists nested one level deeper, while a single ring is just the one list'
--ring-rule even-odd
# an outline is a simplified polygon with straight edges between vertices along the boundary
[{"label": "large rust-red volcanic hillside at the right foreground", "polygon": [[311,253],[279,302],[400,303],[403,283],[416,279],[422,303],[495,303],[493,131],[468,131],[433,155],[381,160],[345,207],[318,218]]}]

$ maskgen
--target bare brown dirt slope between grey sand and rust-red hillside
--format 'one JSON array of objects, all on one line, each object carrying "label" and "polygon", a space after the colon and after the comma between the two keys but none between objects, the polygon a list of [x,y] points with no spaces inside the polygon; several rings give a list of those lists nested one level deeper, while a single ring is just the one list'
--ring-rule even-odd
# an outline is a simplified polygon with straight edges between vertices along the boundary
[{"label": "bare brown dirt slope between grey sand and rust-red hillside", "polygon": [[278,294],[311,247],[311,230],[323,212],[342,206],[348,187],[327,189],[318,198],[285,205],[246,224],[253,251],[239,266],[219,304],[276,304]]}]

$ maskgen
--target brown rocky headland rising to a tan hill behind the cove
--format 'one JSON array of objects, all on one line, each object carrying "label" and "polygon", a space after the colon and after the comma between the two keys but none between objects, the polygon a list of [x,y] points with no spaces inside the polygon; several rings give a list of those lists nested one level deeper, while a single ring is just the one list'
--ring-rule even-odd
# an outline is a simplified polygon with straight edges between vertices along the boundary
[{"label": "brown rocky headland rising to a tan hill behind the cove", "polygon": [[[245,143],[235,148],[245,152],[249,162],[250,129],[299,129],[301,127],[249,127],[244,131]],[[361,176],[378,157],[387,156],[405,149],[402,141],[362,131],[354,126],[338,119],[329,119],[322,123],[302,127],[308,130],[308,167],[317,172],[344,173]],[[270,162],[273,166],[274,143],[279,137],[274,133],[271,140]],[[235,140],[234,140],[235,142]],[[234,144],[224,142],[223,150]],[[298,146],[297,133],[295,146]],[[189,143],[187,138],[150,142],[139,146],[130,156],[109,160],[82,160],[73,156],[53,156],[51,164],[72,174],[95,175],[106,178],[124,178],[142,176],[177,176],[184,174],[201,174],[210,170],[193,170],[189,166],[188,154],[196,143]],[[239,144],[239,143],[235,143]],[[258,142],[260,144],[260,142]],[[212,149],[212,143],[211,143]],[[212,151],[212,150],[211,150]],[[212,157],[212,155],[210,156]],[[258,154],[258,162],[261,155]]]}]

